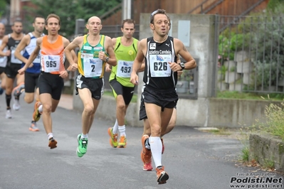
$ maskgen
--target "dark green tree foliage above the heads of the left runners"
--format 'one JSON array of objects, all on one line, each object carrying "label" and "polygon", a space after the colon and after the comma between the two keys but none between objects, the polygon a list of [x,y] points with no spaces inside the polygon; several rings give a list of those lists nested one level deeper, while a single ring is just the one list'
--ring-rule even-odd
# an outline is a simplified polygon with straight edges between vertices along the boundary
[{"label": "dark green tree foliage above the heads of the left runners", "polygon": [[59,33],[69,37],[75,33],[76,19],[83,18],[88,21],[91,16],[101,16],[121,2],[122,0],[32,0],[32,3],[36,5],[36,9],[25,7],[28,12],[26,19],[31,23],[34,16],[46,18],[50,13],[56,13],[61,18]]}]

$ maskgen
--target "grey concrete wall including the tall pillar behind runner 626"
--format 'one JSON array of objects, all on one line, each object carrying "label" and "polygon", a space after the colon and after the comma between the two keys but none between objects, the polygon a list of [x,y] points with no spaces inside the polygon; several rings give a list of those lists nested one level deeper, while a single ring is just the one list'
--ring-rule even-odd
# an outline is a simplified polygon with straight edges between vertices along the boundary
[{"label": "grey concrete wall including the tall pillar behind runner 626", "polygon": [[[169,14],[172,19],[172,36],[177,38],[179,20],[191,21],[190,46],[186,46],[194,58],[199,58],[198,99],[179,99],[177,103],[177,125],[183,126],[250,126],[256,119],[264,116],[267,101],[215,99],[212,91],[216,88],[215,28],[213,15]],[[149,13],[140,15],[140,39],[152,36],[149,29]],[[141,87],[143,74],[139,74],[137,103],[127,109],[127,125],[142,126],[139,121]],[[83,104],[74,96],[74,109],[83,111]],[[95,117],[115,121],[115,99],[103,95]]]}]

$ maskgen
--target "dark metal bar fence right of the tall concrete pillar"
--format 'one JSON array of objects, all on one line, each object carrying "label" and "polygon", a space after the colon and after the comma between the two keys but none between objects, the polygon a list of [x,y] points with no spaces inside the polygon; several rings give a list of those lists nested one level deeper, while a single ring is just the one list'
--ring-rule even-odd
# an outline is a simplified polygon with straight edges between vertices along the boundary
[{"label": "dark metal bar fence right of the tall concrete pillar", "polygon": [[281,16],[218,16],[217,89],[284,93]]}]

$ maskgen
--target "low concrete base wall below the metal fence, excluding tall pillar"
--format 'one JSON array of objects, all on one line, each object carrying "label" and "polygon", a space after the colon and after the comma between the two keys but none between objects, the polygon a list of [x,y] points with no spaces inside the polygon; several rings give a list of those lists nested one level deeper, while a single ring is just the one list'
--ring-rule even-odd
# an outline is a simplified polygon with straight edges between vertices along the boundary
[{"label": "low concrete base wall below the metal fence, excluding tall pillar", "polygon": [[[140,100],[130,103],[125,117],[127,126],[143,126],[139,121]],[[265,121],[265,107],[272,103],[265,100],[249,99],[179,99],[177,103],[177,126],[242,127]],[[280,104],[280,102],[273,102]],[[190,107],[190,108],[189,108]],[[82,112],[83,104],[78,95],[73,97],[73,108]],[[103,95],[96,118],[115,121],[115,98]],[[191,117],[199,117],[191,119]]]}]

